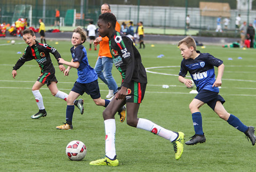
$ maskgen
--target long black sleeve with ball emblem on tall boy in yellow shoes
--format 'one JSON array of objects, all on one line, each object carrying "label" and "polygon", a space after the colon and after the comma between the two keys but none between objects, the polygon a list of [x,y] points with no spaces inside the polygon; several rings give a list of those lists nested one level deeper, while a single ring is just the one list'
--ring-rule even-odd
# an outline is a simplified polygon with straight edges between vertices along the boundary
[{"label": "long black sleeve with ball emblem on tall boy in yellow shoes", "polygon": [[133,48],[132,48],[133,43],[132,43],[131,39],[126,36],[124,36],[124,37],[119,36],[119,38],[121,38],[119,40],[117,37],[115,38],[115,42],[117,43],[118,47],[120,48],[120,50],[122,52],[122,59],[126,64],[125,78],[124,78],[121,86],[129,87],[129,83],[132,80],[133,72],[135,70],[134,69],[135,68],[135,57],[134,57],[134,52],[133,52]]}]

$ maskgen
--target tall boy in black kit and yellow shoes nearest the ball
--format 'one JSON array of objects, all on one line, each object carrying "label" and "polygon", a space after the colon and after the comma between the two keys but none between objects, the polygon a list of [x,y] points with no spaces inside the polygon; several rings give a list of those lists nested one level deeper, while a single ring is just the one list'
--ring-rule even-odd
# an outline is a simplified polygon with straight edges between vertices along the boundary
[{"label": "tall boy in black kit and yellow shoes nearest the ball", "polygon": [[139,51],[130,38],[115,30],[116,17],[112,13],[101,14],[98,20],[99,34],[109,38],[109,49],[116,68],[121,72],[122,84],[119,91],[103,111],[105,124],[105,157],[90,162],[90,165],[118,166],[115,150],[115,113],[126,104],[126,122],[129,126],[147,130],[173,144],[175,159],[183,153],[184,133],[172,132],[154,122],[138,118],[140,103],[146,92],[147,74],[141,63]]}]

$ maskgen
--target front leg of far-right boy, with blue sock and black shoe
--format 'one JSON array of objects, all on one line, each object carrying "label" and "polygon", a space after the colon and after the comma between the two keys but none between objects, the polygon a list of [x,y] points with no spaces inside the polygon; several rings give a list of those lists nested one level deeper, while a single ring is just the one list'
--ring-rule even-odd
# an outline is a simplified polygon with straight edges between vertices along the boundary
[{"label": "front leg of far-right boy, with blue sock and black shoe", "polygon": [[199,108],[202,107],[202,105],[204,105],[204,102],[198,99],[193,99],[193,101],[191,101],[191,103],[189,104],[189,109],[192,114],[195,135],[190,137],[191,139],[185,143],[187,145],[204,143],[206,141],[203,132],[202,114],[199,111]]}]

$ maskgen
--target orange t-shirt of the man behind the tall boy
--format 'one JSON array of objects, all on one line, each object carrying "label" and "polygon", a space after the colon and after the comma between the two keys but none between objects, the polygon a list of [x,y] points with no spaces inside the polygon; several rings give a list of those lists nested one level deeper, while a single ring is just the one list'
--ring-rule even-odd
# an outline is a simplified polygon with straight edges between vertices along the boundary
[{"label": "orange t-shirt of the man behind the tall boy", "polygon": [[[120,32],[120,25],[118,22],[116,22],[116,31]],[[108,37],[102,37],[102,41],[100,42],[100,50],[99,50],[99,56],[105,56],[108,58],[112,58],[112,55],[110,54],[109,50],[109,43],[108,43]]]}]

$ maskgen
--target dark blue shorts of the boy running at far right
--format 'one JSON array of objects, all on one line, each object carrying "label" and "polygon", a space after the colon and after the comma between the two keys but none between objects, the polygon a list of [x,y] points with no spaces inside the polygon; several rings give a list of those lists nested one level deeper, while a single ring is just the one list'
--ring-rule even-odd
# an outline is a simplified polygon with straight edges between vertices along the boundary
[{"label": "dark blue shorts of the boy running at far right", "polygon": [[225,100],[218,92],[212,92],[207,89],[202,89],[199,93],[195,96],[195,99],[207,103],[212,110],[214,110],[217,101],[220,101],[222,104],[225,103]]}]

